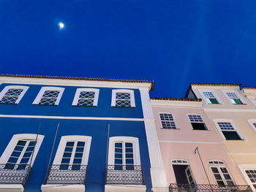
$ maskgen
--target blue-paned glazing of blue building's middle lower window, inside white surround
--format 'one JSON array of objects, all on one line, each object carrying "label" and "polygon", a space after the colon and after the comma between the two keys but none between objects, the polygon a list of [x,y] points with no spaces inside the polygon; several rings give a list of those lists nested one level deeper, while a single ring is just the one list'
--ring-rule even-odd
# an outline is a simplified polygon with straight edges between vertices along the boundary
[{"label": "blue-paned glazing of blue building's middle lower window, inside white surround", "polygon": [[68,141],[61,158],[59,169],[79,170],[83,160],[86,142]]}]

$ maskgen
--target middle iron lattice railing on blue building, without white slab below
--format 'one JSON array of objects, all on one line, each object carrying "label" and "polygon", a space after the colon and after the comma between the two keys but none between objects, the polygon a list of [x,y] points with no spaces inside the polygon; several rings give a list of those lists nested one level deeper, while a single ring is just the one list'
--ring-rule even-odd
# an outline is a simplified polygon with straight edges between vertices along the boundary
[{"label": "middle iron lattice railing on blue building, without white slab below", "polygon": [[81,184],[86,182],[87,165],[71,165],[68,169],[61,169],[61,165],[51,165],[45,177],[47,184]]}]

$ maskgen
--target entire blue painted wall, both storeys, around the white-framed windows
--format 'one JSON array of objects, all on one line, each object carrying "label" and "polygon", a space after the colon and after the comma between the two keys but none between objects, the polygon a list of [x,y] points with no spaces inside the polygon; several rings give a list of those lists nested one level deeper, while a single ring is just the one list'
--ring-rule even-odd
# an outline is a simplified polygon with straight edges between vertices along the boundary
[{"label": "entire blue painted wall, both storeys, around the white-framed windows", "polygon": [[[1,89],[4,86],[1,85]],[[18,105],[1,104],[0,114],[143,118],[140,93],[138,90],[135,90],[135,108],[110,107],[111,88],[100,88],[97,107],[72,107],[71,104],[76,87],[64,87],[65,91],[59,106],[32,105],[41,87],[41,85],[29,85],[29,90],[23,96],[20,103]],[[56,154],[61,136],[86,135],[92,137],[86,191],[104,191],[108,123],[110,123],[110,137],[126,136],[139,138],[140,161],[144,170],[147,191],[151,191],[150,159],[143,121],[0,118],[2,133],[0,136],[0,153],[2,154],[4,152],[5,147],[7,147],[14,134],[37,134],[39,123],[42,123],[39,134],[44,135],[45,138],[42,141],[31,174],[29,175],[26,192],[40,191],[39,188],[43,183],[47,171],[50,150],[53,145],[53,138],[58,123],[60,123],[60,128],[56,145],[54,146],[53,158]],[[53,158],[51,163],[53,162]]]}]

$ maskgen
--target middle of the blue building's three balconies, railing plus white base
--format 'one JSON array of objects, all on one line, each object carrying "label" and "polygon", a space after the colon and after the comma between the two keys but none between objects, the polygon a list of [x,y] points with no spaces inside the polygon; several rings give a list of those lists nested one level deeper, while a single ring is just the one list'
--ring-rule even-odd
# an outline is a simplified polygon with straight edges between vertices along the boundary
[{"label": "middle of the blue building's three balconies, railing plus white base", "polygon": [[42,191],[85,191],[87,165],[51,165]]}]

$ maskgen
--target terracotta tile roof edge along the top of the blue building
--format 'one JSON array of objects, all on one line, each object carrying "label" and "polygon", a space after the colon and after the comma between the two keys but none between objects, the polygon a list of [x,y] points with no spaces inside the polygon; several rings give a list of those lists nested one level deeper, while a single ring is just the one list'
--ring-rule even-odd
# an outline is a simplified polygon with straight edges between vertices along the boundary
[{"label": "terracotta tile roof edge along the top of the blue building", "polygon": [[88,80],[88,81],[108,81],[108,82],[141,82],[151,83],[151,91],[154,90],[154,81],[148,80],[113,80],[104,78],[89,78],[89,77],[60,77],[60,76],[42,76],[28,74],[0,74],[0,77],[25,77],[25,78],[40,78],[40,79],[58,79],[58,80]]}]

